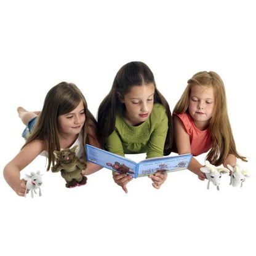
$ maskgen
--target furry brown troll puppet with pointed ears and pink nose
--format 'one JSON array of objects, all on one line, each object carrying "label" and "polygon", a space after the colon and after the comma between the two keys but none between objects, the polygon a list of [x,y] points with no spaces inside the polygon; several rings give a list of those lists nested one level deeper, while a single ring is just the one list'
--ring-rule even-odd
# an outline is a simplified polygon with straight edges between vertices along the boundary
[{"label": "furry brown troll puppet with pointed ears and pink nose", "polygon": [[85,185],[87,178],[81,175],[81,170],[86,169],[86,162],[76,156],[78,145],[73,148],[65,148],[61,151],[54,151],[57,163],[52,167],[52,172],[61,172],[66,180],[67,188]]}]

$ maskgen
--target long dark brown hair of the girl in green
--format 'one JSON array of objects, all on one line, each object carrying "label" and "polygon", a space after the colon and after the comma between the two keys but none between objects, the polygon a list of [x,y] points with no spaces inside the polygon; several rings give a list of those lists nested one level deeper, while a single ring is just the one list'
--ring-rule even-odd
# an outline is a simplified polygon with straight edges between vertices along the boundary
[{"label": "long dark brown hair of the girl in green", "polygon": [[119,101],[118,95],[124,97],[132,86],[142,86],[144,84],[154,84],[154,103],[161,103],[166,108],[169,128],[164,145],[164,155],[170,154],[174,133],[169,104],[159,90],[156,89],[153,73],[143,62],[129,62],[122,66],[114,78],[109,94],[106,95],[98,108],[97,135],[103,147],[105,147],[106,138],[114,130],[116,110],[119,107],[123,107],[123,104]]}]

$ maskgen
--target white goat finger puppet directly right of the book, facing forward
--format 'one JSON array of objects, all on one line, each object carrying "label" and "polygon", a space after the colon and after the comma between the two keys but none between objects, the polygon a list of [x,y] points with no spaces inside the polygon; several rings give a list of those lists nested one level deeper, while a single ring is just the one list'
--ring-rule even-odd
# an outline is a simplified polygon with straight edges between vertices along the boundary
[{"label": "white goat finger puppet directly right of the book, facing forward", "polygon": [[220,180],[222,178],[222,174],[230,172],[225,167],[215,167],[210,164],[209,161],[205,162],[206,166],[201,167],[200,170],[206,174],[206,178],[208,179],[207,190],[209,190],[210,182],[217,186],[217,190],[220,190]]}]

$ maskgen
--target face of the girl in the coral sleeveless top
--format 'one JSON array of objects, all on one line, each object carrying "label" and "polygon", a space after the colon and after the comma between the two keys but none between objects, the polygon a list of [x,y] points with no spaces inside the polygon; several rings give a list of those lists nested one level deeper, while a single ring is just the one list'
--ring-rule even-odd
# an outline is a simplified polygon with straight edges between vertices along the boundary
[{"label": "face of the girl in the coral sleeveless top", "polygon": [[199,130],[204,130],[209,126],[214,111],[212,86],[193,86],[191,88],[188,111]]}]

